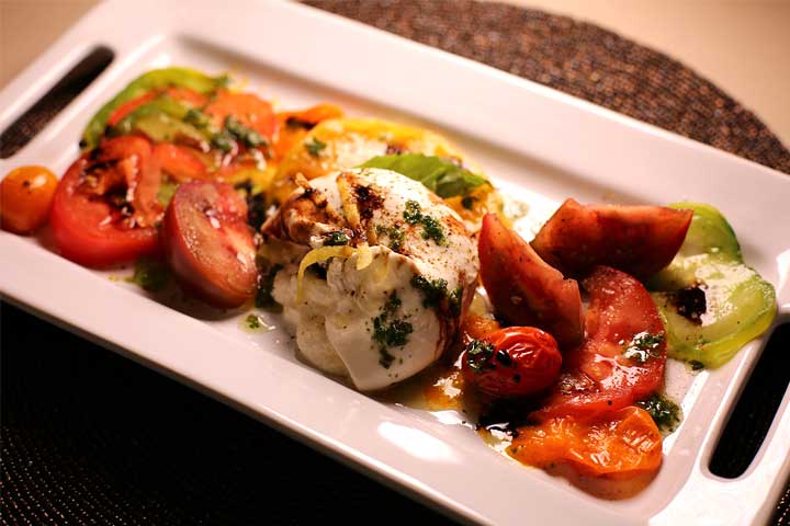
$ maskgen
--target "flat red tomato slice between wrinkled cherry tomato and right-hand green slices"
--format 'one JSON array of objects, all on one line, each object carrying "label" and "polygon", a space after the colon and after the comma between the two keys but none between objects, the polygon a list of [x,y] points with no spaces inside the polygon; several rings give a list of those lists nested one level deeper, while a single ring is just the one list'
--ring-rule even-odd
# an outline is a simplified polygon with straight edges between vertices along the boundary
[{"label": "flat red tomato slice between wrinkled cherry tomato and right-hand green slices", "polygon": [[582,284],[590,298],[587,336],[563,356],[557,384],[532,413],[540,421],[616,411],[648,397],[664,381],[664,324],[644,286],[608,266],[597,266]]}]

